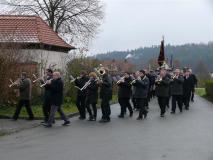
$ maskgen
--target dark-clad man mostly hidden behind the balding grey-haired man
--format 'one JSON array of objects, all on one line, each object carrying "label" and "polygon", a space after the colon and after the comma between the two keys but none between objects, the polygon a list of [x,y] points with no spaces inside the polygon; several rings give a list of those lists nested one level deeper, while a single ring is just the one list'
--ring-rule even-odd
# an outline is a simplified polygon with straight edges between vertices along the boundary
[{"label": "dark-clad man mostly hidden behind the balding grey-haired man", "polygon": [[[45,81],[48,81],[52,78],[53,78],[52,69],[47,69]],[[45,81],[43,79],[40,80],[42,84],[44,84]],[[50,85],[45,85],[44,87],[45,87],[45,90],[44,90],[44,101],[43,101],[42,109],[44,114],[44,123],[47,123],[47,121],[49,120],[50,109],[51,109]]]}]

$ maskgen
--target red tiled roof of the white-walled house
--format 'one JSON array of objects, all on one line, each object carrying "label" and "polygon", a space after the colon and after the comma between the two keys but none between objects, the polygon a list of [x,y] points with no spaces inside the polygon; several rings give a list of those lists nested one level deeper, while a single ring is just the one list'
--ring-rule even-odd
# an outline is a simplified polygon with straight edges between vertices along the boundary
[{"label": "red tiled roof of the white-walled house", "polygon": [[38,16],[0,15],[1,42],[35,43],[74,49]]}]

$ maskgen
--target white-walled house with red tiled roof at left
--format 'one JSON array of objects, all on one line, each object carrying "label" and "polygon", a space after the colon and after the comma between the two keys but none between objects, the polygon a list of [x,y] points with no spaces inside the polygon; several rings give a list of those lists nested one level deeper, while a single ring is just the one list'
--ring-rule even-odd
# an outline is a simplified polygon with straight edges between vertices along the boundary
[{"label": "white-walled house with red tiled roof at left", "polygon": [[22,61],[36,62],[40,71],[65,69],[67,54],[75,49],[40,17],[29,15],[0,15],[0,46],[4,44],[20,44]]}]

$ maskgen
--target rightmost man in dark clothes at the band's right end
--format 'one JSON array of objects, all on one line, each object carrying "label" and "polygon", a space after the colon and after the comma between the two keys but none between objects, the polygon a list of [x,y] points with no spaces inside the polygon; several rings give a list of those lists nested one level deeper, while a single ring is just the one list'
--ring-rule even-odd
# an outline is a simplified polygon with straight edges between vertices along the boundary
[{"label": "rightmost man in dark clothes at the band's right end", "polygon": [[184,73],[184,83],[183,83],[183,104],[185,105],[186,110],[189,110],[189,102],[193,87],[194,83],[192,77],[190,76],[190,71],[186,69]]}]

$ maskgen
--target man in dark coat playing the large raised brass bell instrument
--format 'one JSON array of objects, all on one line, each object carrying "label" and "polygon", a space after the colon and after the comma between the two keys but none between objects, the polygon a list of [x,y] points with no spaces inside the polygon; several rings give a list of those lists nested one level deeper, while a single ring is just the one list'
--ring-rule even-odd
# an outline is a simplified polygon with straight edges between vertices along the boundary
[{"label": "man in dark coat playing the large raised brass bell instrument", "polygon": [[112,78],[107,72],[105,69],[105,73],[102,74],[102,80],[99,81],[102,111],[102,118],[99,122],[101,123],[110,122],[111,114],[109,101],[112,99]]}]

